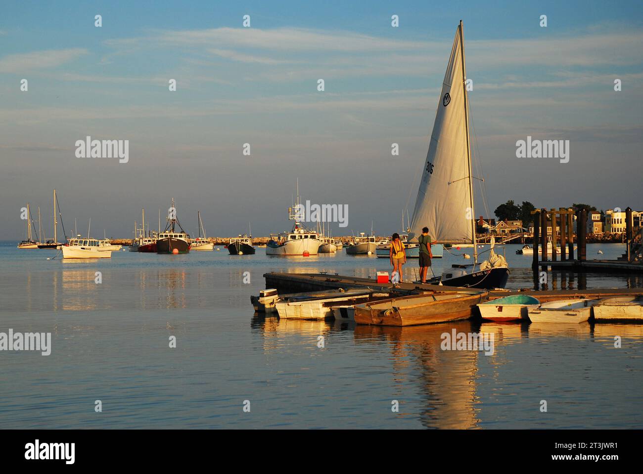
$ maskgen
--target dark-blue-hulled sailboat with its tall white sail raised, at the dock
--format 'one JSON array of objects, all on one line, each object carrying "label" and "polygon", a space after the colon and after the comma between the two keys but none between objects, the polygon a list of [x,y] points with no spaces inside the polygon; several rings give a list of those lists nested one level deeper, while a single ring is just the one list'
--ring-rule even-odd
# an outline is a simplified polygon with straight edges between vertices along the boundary
[{"label": "dark-blue-hulled sailboat with its tall white sail raised, at the dock", "polygon": [[474,210],[464,31],[460,21],[442,82],[409,241],[417,242],[422,227],[428,227],[437,243],[472,243],[473,265],[448,268],[442,274],[442,284],[503,288],[509,278],[509,268],[503,256],[494,253],[493,243],[489,258],[478,263]]}]

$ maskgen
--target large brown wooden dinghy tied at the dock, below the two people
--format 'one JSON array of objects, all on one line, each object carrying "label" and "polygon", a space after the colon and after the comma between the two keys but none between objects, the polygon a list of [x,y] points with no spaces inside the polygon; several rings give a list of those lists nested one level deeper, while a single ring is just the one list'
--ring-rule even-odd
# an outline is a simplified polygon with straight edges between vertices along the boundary
[{"label": "large brown wooden dinghy tied at the dock, below the two people", "polygon": [[476,304],[487,292],[457,291],[389,298],[355,306],[355,322],[382,326],[415,326],[471,317]]}]

